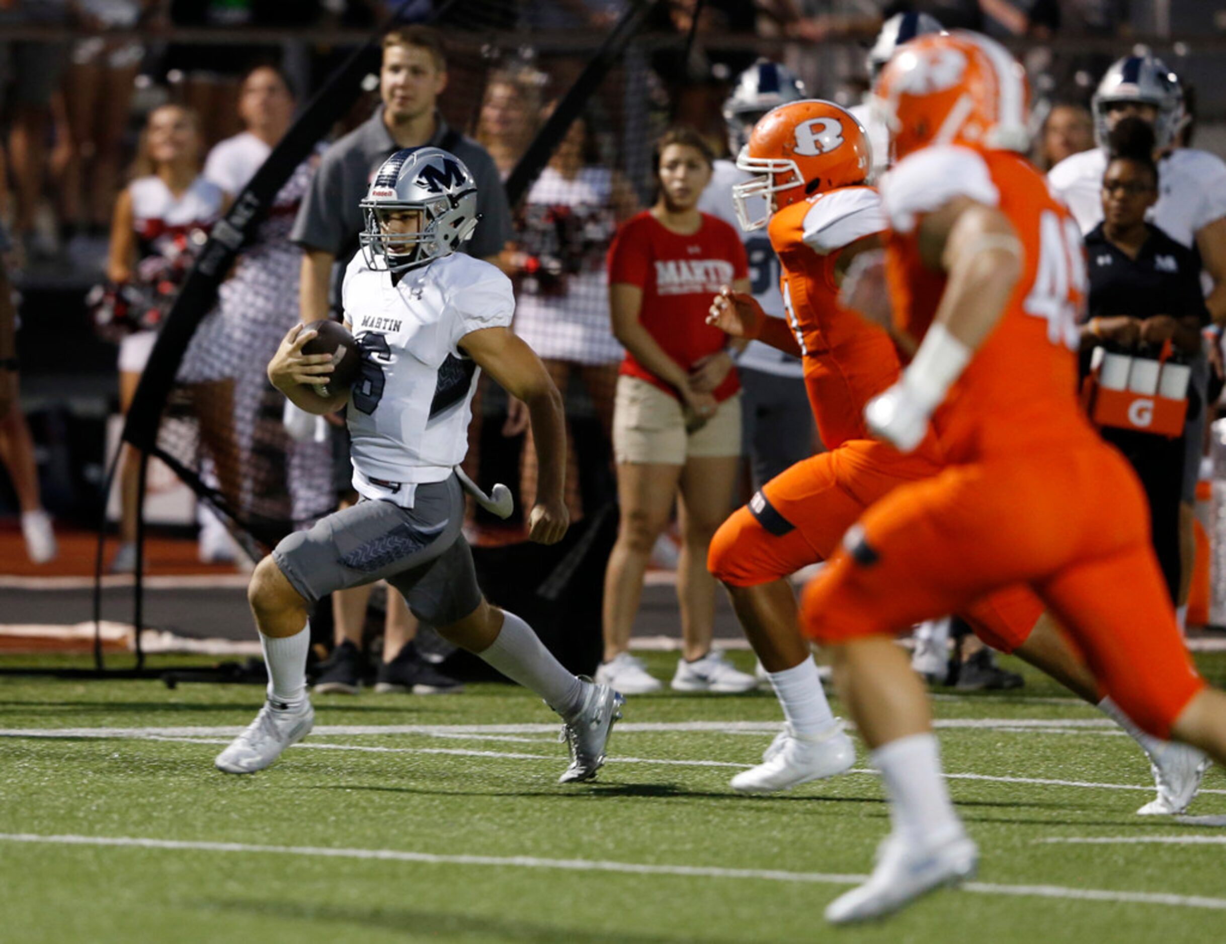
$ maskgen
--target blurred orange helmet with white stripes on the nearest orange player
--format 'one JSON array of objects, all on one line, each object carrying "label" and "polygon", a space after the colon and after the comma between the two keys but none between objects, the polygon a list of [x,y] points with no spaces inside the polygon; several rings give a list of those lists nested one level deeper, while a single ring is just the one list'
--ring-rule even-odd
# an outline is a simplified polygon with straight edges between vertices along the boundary
[{"label": "blurred orange helmet with white stripes on the nearest orange player", "polygon": [[891,163],[929,144],[1025,152],[1030,88],[1009,50],[965,29],[899,47],[877,84]]}]

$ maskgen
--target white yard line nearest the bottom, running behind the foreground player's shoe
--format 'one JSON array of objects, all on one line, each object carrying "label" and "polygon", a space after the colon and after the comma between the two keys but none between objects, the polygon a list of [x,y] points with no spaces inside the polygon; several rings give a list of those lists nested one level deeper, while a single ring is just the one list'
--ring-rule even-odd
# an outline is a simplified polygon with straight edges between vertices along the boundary
[{"label": "white yard line nearest the bottom, running behind the foreground player's shoe", "polygon": [[[609,862],[586,858],[541,858],[538,856],[460,856],[411,852],[396,848],[331,848],[326,846],[259,846],[245,842],[191,842],[136,836],[37,835],[0,833],[2,842],[48,844],[65,846],[120,846],[191,852],[264,853],[319,858],[378,860],[414,862],[430,866],[487,866],[497,868],[536,868],[560,872],[614,872],[630,875],[678,875],[684,878],[727,878],[760,882],[796,882],[819,885],[856,885],[867,875],[825,872],[783,872],[780,869],[718,868],[715,866],[660,866],[641,862]],[[1226,910],[1226,899],[1200,895],[1172,895],[1151,891],[1113,891],[1110,889],[1065,888],[1063,885],[998,885],[970,882],[964,890],[981,895],[1010,895],[1075,901],[1110,901],[1135,905],[1167,905],[1186,908]]]}]

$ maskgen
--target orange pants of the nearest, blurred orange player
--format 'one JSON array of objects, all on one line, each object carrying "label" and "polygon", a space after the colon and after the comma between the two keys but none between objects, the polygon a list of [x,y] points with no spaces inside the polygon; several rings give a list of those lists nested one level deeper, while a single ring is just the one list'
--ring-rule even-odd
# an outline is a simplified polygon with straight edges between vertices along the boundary
[{"label": "orange pants of the nearest, blurred orange player", "polygon": [[1025,584],[1143,729],[1205,684],[1179,635],[1140,482],[1097,441],[953,465],[869,508],[802,597],[821,643],[894,634]]}]

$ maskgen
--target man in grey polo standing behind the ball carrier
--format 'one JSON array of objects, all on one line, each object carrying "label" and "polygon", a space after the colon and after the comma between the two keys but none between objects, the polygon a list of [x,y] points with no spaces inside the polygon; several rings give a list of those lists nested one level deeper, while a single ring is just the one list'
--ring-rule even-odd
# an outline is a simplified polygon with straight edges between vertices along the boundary
[{"label": "man in grey polo standing behind the ball carrier", "polygon": [[[466,251],[497,261],[511,236],[510,207],[498,168],[476,141],[447,126],[438,111],[438,99],[447,84],[446,58],[441,36],[429,27],[394,29],[383,39],[379,73],[381,104],[358,129],[337,141],[324,154],[319,171],[303,200],[289,235],[303,249],[299,283],[300,317],[304,322],[329,317],[333,268],[349,261],[358,249],[363,229],[359,202],[367,193],[370,175],[395,151],[434,144],[452,152],[477,180],[477,211],[482,219]],[[340,277],[335,284],[340,287]],[[352,493],[348,443],[343,443],[336,482]],[[332,597],[337,646],[319,677],[318,691],[357,693],[362,680],[362,628],[370,586],[343,590]],[[384,662],[376,691],[457,691],[459,683],[424,661],[411,645],[417,622],[400,594],[389,594]]]}]

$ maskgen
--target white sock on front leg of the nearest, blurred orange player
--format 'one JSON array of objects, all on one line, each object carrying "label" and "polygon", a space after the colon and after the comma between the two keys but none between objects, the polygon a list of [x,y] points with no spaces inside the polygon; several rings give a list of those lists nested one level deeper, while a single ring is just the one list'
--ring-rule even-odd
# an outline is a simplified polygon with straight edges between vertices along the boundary
[{"label": "white sock on front leg of the nearest, blurred orange player", "polygon": [[895,833],[921,841],[940,841],[962,831],[940,773],[940,749],[934,735],[900,737],[877,748],[872,757],[885,781]]}]

